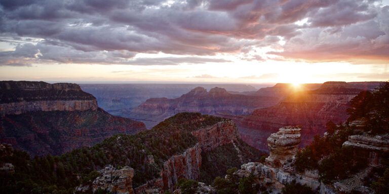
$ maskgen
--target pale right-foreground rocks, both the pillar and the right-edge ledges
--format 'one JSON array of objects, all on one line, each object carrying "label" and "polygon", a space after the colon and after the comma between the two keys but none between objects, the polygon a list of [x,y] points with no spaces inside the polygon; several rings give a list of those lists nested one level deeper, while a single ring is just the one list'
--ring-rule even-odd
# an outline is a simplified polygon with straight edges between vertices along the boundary
[{"label": "pale right-foreground rocks, both the pillar and the right-edge ledges", "polygon": [[[250,162],[243,164],[233,176],[238,180],[242,177],[254,176],[255,184],[265,186],[267,190],[281,192],[286,184],[292,182],[310,187],[320,194],[335,193],[374,193],[372,188],[365,186],[366,179],[371,176],[374,167],[383,166],[384,154],[389,153],[389,135],[351,135],[342,147],[352,147],[354,157],[368,159],[369,166],[352,177],[323,183],[319,180],[318,170],[305,170],[300,173],[294,168],[294,156],[300,141],[300,129],[294,127],[280,128],[268,139],[270,155],[265,163]],[[378,168],[379,169],[379,168]],[[226,176],[226,178],[231,178]],[[235,179],[236,180],[236,179]]]}]

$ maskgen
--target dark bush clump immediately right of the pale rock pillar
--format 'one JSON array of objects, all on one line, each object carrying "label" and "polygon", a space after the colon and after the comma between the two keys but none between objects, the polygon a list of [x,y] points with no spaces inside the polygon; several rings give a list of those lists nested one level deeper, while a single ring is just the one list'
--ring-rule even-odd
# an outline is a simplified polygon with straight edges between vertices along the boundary
[{"label": "dark bush clump immediately right of the pale rock pillar", "polygon": [[354,157],[351,148],[342,148],[353,130],[346,125],[334,126],[329,123],[327,127],[333,130],[325,137],[315,136],[314,141],[296,155],[296,170],[318,169],[320,179],[324,182],[339,180],[358,172],[366,167],[366,159]]}]

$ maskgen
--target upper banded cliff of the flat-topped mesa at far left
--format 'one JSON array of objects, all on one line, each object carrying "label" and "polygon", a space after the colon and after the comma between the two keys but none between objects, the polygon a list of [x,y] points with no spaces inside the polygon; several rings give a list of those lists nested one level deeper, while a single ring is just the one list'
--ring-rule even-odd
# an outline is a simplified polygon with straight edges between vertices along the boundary
[{"label": "upper banded cliff of the flat-topped mesa at far left", "polygon": [[0,81],[0,114],[97,110],[93,95],[72,83]]}]

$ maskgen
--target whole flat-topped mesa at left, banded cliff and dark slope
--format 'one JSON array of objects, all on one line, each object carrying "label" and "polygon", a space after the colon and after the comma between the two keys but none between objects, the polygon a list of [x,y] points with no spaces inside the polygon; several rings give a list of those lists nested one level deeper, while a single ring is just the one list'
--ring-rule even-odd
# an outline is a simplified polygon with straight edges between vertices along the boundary
[{"label": "whole flat-topped mesa at left, banded cliff and dark slope", "polygon": [[145,129],[98,108],[93,95],[71,83],[0,81],[0,114],[0,142],[31,155],[59,155]]}]

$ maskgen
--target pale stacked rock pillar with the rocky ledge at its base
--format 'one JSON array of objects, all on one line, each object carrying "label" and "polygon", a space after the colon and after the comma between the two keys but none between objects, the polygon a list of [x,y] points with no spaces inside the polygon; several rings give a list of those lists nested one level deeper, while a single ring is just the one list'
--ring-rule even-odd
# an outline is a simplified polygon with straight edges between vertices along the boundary
[{"label": "pale stacked rock pillar with the rocky ledge at its base", "polygon": [[294,170],[293,158],[300,142],[300,131],[301,129],[296,127],[280,128],[267,139],[270,155],[265,159],[265,164],[258,162],[243,164],[233,175],[237,178],[254,175],[255,182],[265,186],[267,190],[272,191],[271,193],[281,192],[282,188],[292,181],[318,190],[321,194],[336,193],[332,186],[318,180],[318,171],[305,171],[299,174]]}]

